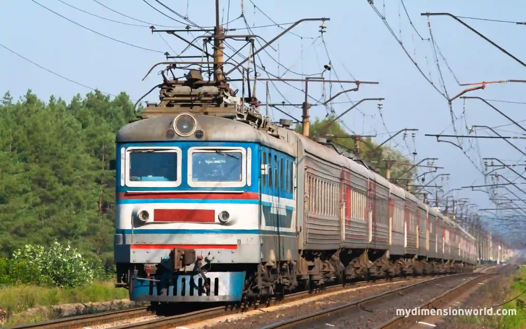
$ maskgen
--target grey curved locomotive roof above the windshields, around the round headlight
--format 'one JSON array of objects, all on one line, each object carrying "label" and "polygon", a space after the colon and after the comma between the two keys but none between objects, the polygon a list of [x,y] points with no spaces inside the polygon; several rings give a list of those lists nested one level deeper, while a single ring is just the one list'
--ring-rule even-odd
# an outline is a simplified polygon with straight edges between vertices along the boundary
[{"label": "grey curved locomotive roof above the windshields, around the round headlight", "polygon": [[191,115],[196,119],[197,129],[203,130],[203,138],[197,139],[194,135],[180,137],[176,134],[174,138],[169,139],[166,132],[173,128],[177,115],[163,115],[125,125],[117,133],[116,142],[257,142],[293,155],[292,147],[283,139],[262,133],[246,123],[212,115]]}]

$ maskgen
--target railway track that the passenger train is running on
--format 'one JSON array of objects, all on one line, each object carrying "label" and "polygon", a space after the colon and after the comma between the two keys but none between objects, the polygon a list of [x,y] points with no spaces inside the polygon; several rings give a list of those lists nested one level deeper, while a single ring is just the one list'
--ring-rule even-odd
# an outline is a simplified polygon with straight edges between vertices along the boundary
[{"label": "railway track that the passenger train is running on", "polygon": [[[414,278],[423,278],[427,276],[411,276],[411,277],[395,277],[392,279],[379,279],[375,281],[365,281],[357,282],[347,285],[333,285],[327,287],[323,290],[317,290],[314,293],[308,291],[298,292],[287,295],[283,300],[271,300],[267,305],[257,305],[259,306],[268,306],[268,305],[279,305],[281,303],[292,302],[301,300],[302,298],[310,297],[313,295],[322,296],[323,294],[350,290],[352,288],[370,286],[386,282],[403,282],[408,281]],[[438,276],[438,277],[444,277]],[[147,320],[143,322],[130,323],[126,325],[117,325],[113,326],[112,329],[148,329],[148,328],[168,328],[181,326],[185,324],[199,322],[201,320],[209,319],[211,317],[217,317],[222,315],[227,315],[231,313],[237,313],[237,309],[226,309],[224,306],[206,308],[205,310],[198,310],[194,312],[188,312],[184,314],[177,314],[171,316],[159,316],[154,320]],[[30,328],[43,328],[43,329],[70,329],[70,328],[82,328],[86,326],[93,326],[106,323],[114,323],[123,320],[129,320],[132,318],[147,316],[154,314],[153,311],[149,310],[148,307],[134,308],[131,310],[115,311],[115,312],[105,312],[99,314],[89,314],[81,316],[73,316],[62,318],[58,320],[52,320],[47,322],[32,323],[10,327],[9,329],[30,329]]]}]

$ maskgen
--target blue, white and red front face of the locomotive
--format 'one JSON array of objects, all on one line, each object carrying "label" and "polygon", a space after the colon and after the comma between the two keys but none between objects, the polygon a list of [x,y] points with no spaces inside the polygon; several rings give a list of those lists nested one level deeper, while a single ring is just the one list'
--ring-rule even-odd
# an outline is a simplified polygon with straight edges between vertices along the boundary
[{"label": "blue, white and red front face of the locomotive", "polygon": [[119,131],[115,262],[130,300],[241,300],[260,262],[255,141],[249,125],[188,113]]}]

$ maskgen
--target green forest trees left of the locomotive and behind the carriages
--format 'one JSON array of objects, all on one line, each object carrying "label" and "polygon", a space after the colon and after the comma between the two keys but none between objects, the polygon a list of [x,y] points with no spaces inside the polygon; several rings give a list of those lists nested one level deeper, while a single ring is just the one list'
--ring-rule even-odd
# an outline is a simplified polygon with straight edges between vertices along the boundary
[{"label": "green forest trees left of the locomotive and behind the carriages", "polygon": [[[68,104],[53,96],[44,102],[31,91],[14,101],[6,93],[0,113],[0,257],[57,240],[112,265],[115,171],[109,161],[118,129],[136,117],[129,96],[95,91]],[[324,122],[312,123],[313,135]],[[337,123],[328,133],[346,135]],[[354,147],[351,138],[338,143]],[[376,144],[364,145],[360,154],[378,167],[385,167],[382,158],[397,159],[392,177],[410,163],[389,147],[368,156]]]}]

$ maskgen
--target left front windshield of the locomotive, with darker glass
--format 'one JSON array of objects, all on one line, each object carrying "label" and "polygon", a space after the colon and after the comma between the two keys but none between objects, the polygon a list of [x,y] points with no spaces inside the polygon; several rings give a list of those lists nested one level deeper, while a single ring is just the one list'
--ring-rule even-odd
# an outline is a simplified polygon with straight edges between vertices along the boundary
[{"label": "left front windshield of the locomotive, with darker glass", "polygon": [[134,150],[129,156],[129,180],[131,182],[177,181],[176,152],[145,149]]}]

